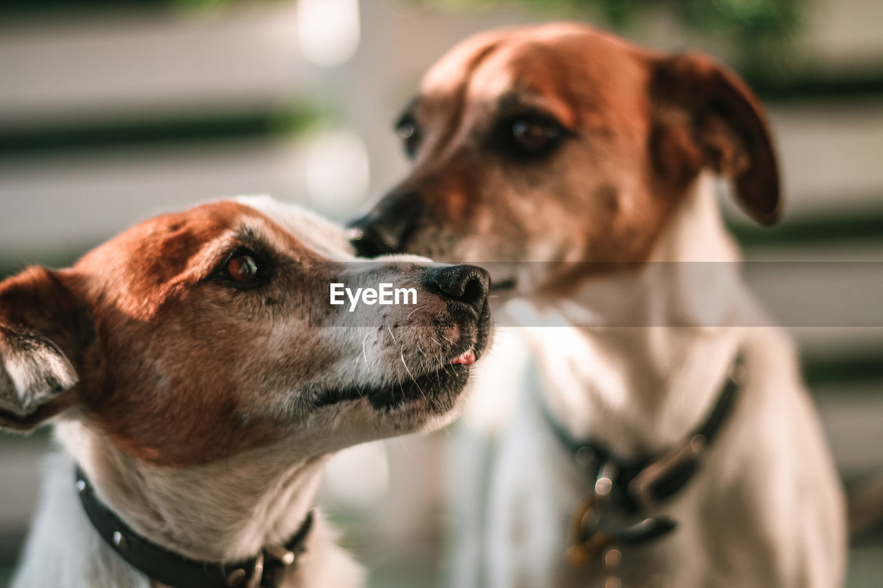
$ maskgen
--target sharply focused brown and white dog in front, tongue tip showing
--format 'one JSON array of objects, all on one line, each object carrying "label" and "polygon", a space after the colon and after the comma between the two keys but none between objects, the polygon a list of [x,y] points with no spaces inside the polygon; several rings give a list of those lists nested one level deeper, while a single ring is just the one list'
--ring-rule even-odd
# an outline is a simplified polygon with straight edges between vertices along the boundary
[{"label": "sharply focused brown and white dog in front, tongue tip showing", "polygon": [[[355,261],[342,228],[249,197],[159,216],[72,268],[0,283],[0,426],[52,418],[64,449],[13,585],[193,588],[228,585],[228,571],[242,580],[230,585],[362,584],[328,527],[304,526],[322,465],[449,422],[489,313],[479,268]],[[378,282],[413,288],[419,306],[329,305],[329,283]],[[108,515],[87,517],[78,491],[125,527],[102,540]],[[306,551],[286,554],[298,529]],[[159,550],[132,553],[146,542]],[[129,563],[157,551],[225,574],[166,580]],[[295,562],[261,581],[259,554],[265,572],[271,554]],[[241,561],[254,565],[222,568]]]}]

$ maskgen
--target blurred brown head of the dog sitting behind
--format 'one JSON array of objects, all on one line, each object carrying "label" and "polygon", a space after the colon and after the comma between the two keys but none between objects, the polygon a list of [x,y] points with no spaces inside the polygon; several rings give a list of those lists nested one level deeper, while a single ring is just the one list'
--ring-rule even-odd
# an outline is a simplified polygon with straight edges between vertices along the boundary
[{"label": "blurred brown head of the dog sitting behind", "polygon": [[756,221],[779,215],[766,120],[736,75],[588,26],[464,41],[427,72],[397,131],[413,168],[353,222],[361,254],[642,262],[706,169],[734,180]]}]

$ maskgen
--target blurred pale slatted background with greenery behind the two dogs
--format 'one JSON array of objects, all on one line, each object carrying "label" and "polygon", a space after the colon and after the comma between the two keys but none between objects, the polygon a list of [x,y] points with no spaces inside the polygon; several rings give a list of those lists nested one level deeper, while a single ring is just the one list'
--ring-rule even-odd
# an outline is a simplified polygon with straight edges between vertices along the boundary
[{"label": "blurred pale slatted background with greenery behind the two dogs", "polygon": [[[879,0],[0,0],[0,277],[223,195],[352,218],[404,176],[392,123],[426,67],[479,30],[562,18],[704,49],[755,87],[788,204],[770,230],[725,205],[748,259],[883,260]],[[792,330],[844,482],[879,487],[883,329]],[[330,465],[323,504],[372,586],[442,585],[449,438]],[[50,443],[0,436],[0,586]],[[883,529],[869,525],[849,586],[879,585]]]}]

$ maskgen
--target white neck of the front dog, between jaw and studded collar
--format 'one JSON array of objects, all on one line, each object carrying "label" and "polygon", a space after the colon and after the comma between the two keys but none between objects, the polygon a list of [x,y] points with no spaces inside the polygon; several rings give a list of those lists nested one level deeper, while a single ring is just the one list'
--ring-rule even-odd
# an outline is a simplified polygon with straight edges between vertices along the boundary
[{"label": "white neck of the front dog, between jaw and studded collar", "polygon": [[99,499],[134,531],[208,562],[236,562],[290,539],[313,506],[326,461],[292,459],[291,448],[280,447],[223,463],[156,467],[76,422],[58,424],[57,435]]}]

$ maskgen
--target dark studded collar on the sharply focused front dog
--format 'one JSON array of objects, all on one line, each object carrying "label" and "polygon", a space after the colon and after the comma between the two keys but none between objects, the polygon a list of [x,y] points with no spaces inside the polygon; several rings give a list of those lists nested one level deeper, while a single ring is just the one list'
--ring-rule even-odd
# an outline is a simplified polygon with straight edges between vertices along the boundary
[{"label": "dark studded collar on the sharply focused front dog", "polygon": [[242,562],[200,562],[179,555],[141,537],[95,496],[86,474],[76,468],[76,488],[83,509],[95,531],[134,568],[172,588],[230,588],[261,586],[278,588],[285,569],[306,551],[306,538],[313,527],[313,511],[284,546],[264,547],[256,557]]}]

